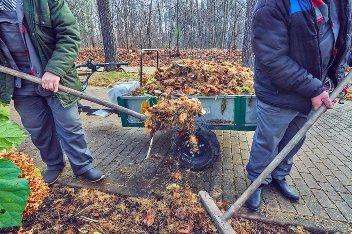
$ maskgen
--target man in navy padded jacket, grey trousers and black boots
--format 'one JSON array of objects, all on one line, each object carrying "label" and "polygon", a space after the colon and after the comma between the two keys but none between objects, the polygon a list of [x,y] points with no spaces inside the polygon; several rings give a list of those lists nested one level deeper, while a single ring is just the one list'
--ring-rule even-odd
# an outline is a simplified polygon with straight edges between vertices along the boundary
[{"label": "man in navy padded jacket, grey trousers and black boots", "polygon": [[[351,45],[351,5],[347,0],[259,0],[252,20],[254,88],[258,126],[249,163],[254,181],[321,105],[333,108],[322,83],[344,77]],[[293,156],[305,137],[246,201],[258,210],[265,184],[287,199],[300,196],[287,184]]]}]

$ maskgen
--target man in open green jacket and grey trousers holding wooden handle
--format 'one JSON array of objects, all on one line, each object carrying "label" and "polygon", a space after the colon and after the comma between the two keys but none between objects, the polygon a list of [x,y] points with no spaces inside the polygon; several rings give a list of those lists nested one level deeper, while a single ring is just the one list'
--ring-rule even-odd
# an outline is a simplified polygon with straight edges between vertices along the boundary
[{"label": "man in open green jacket and grey trousers holding wooden handle", "polygon": [[0,43],[0,65],[42,78],[38,85],[0,73],[0,101],[13,100],[47,165],[44,181],[58,179],[64,152],[76,176],[101,180],[104,173],[93,168],[87,148],[79,98],[58,91],[58,84],[81,91],[74,65],[80,34],[68,6],[63,0],[0,0]]}]

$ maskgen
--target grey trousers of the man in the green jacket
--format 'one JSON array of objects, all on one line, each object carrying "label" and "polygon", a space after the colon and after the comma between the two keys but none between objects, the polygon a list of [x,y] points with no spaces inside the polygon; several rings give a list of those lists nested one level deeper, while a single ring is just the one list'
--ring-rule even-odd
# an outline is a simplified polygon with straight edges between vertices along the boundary
[{"label": "grey trousers of the man in the green jacket", "polygon": [[93,157],[87,147],[77,104],[63,108],[54,93],[43,90],[41,85],[19,90],[15,88],[14,107],[48,169],[65,167],[64,152],[75,175],[92,169]]}]

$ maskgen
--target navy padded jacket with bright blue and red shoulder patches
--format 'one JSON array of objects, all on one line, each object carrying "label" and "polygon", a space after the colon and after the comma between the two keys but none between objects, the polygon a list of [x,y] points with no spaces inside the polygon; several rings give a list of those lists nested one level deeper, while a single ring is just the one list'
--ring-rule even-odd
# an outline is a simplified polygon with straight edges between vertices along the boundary
[{"label": "navy padded jacket with bright blue and red shoulder patches", "polygon": [[[346,71],[351,46],[351,2],[336,5],[340,30],[328,77],[337,85]],[[254,89],[264,103],[308,114],[310,98],[324,91],[319,28],[311,0],[258,0],[253,11]]]}]

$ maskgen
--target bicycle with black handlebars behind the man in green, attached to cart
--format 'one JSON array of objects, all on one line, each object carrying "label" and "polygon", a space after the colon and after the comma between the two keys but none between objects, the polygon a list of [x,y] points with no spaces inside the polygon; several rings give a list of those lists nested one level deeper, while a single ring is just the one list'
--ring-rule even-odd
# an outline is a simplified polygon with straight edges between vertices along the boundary
[{"label": "bicycle with black handlebars behind the man in green, attached to cart", "polygon": [[[80,67],[87,67],[87,70],[85,73],[78,73],[78,76],[86,76],[85,79],[81,80],[81,86],[82,86],[82,92],[86,93],[86,89],[88,86],[88,80],[89,78],[94,74],[94,72],[100,72],[98,71],[101,67],[106,67],[106,66],[115,66],[116,71],[123,71],[127,74],[127,72],[125,71],[125,69],[123,69],[123,67],[121,67],[121,65],[123,66],[127,66],[128,63],[93,63],[94,58],[89,58],[87,60],[87,63],[83,63],[83,64],[78,64],[76,65],[76,69],[80,68]],[[99,111],[99,113],[98,113]],[[103,117],[107,117],[109,115],[111,115],[112,113],[117,113],[118,116],[120,117],[120,113],[118,111],[109,109],[109,108],[91,108],[90,106],[84,106],[81,104],[80,101],[78,101],[78,113],[82,113],[82,112],[86,112],[87,115],[99,115],[99,116],[103,116]],[[95,113],[94,113],[95,112]]]}]

